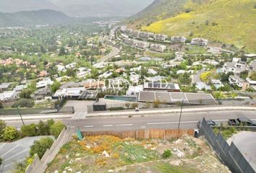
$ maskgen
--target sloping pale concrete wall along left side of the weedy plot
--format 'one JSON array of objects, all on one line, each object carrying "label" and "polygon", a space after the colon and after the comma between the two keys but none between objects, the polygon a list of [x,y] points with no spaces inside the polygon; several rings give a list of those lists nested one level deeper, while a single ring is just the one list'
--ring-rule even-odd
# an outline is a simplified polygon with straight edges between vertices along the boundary
[{"label": "sloping pale concrete wall along left side of the weedy plot", "polygon": [[43,155],[42,159],[39,159],[38,155],[35,155],[35,159],[25,173],[43,173],[46,171],[47,165],[54,160],[55,156],[59,153],[59,150],[65,143],[71,141],[72,135],[70,132],[70,128],[68,127],[67,130],[64,128],[59,137],[54,141],[53,145],[50,149],[46,151]]}]

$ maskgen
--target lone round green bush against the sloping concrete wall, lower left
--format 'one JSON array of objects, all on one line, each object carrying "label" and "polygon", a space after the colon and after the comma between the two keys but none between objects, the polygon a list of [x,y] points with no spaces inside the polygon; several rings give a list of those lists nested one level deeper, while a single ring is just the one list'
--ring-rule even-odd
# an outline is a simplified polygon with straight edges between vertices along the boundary
[{"label": "lone round green bush against the sloping concrete wall, lower left", "polygon": [[54,139],[50,137],[40,138],[40,140],[34,141],[33,146],[30,147],[30,157],[38,154],[38,157],[41,159],[43,157],[43,154],[45,154],[46,150],[48,148],[51,148],[53,143]]}]

